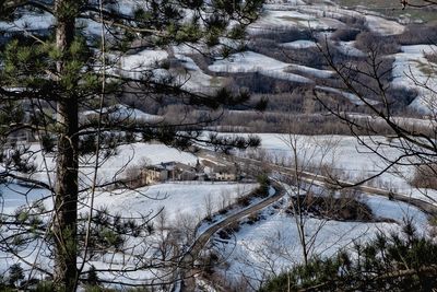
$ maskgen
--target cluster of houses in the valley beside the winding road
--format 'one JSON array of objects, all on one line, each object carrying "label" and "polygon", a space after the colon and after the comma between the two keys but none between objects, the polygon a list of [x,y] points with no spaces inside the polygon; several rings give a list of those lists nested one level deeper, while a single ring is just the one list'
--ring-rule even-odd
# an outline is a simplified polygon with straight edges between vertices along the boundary
[{"label": "cluster of houses in the valley beside the winding road", "polygon": [[214,162],[202,160],[196,165],[180,162],[166,162],[149,165],[141,170],[142,185],[151,185],[168,180],[222,180],[233,182],[240,179],[241,175],[237,165],[218,165]]}]

